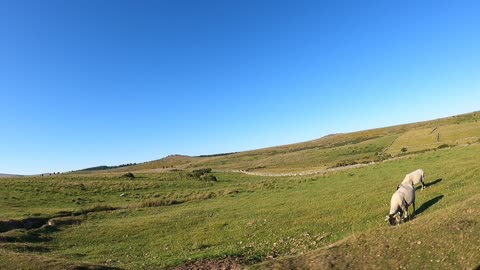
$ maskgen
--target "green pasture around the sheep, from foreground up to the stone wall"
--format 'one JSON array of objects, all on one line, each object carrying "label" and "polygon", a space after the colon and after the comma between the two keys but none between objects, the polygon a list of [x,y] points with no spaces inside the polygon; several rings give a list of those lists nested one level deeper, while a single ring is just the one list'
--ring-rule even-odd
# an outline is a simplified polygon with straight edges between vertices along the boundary
[{"label": "green pasture around the sheep, from foreground up to the stone wall", "polygon": [[[0,268],[157,269],[225,257],[254,268],[312,266],[325,262],[319,258],[334,252],[332,244],[339,245],[333,249],[338,252],[352,250],[349,261],[335,253],[339,266],[396,267],[393,256],[410,269],[430,260],[435,262],[431,268],[474,267],[480,262],[479,238],[473,237],[480,220],[479,151],[478,144],[459,146],[328,175],[215,173],[217,182],[182,171],[134,179],[120,173],[0,179],[3,220],[62,211],[76,219],[2,230]],[[427,185],[417,194],[418,214],[389,227],[383,219],[390,196],[404,174],[417,167],[425,170]],[[418,232],[412,228],[417,226]],[[449,237],[436,239],[435,232],[445,230]],[[417,247],[416,239],[424,244]],[[395,254],[379,246],[385,241]],[[371,248],[363,253],[365,242]],[[438,247],[424,248],[427,243]],[[283,256],[295,257],[285,263]],[[262,261],[267,262],[255,265]]]}]

